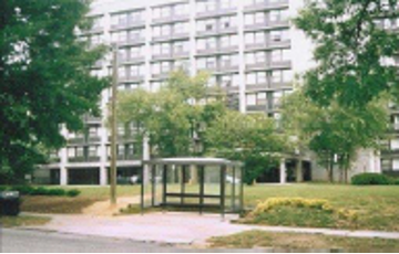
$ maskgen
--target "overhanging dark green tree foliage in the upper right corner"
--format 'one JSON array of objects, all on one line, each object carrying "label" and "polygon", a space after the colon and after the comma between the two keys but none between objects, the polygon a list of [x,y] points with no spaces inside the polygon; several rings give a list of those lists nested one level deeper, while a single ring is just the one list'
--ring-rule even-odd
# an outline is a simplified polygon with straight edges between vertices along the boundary
[{"label": "overhanging dark green tree foliage in the upper right corner", "polygon": [[364,108],[381,95],[398,99],[399,33],[383,29],[398,18],[398,0],[308,0],[295,20],[316,44],[317,66],[305,93],[319,105]]}]

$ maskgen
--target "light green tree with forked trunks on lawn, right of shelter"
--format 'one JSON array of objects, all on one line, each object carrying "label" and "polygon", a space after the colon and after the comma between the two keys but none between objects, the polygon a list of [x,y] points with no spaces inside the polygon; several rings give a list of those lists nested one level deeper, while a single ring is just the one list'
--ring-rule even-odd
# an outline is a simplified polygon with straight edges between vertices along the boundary
[{"label": "light green tree with forked trunks on lawn, right of shelter", "polygon": [[295,92],[283,104],[283,124],[295,149],[314,151],[334,181],[334,168],[338,165],[342,181],[360,149],[378,149],[386,136],[388,109],[383,98],[374,100],[365,108],[346,108],[338,103],[319,107],[301,91]]}]

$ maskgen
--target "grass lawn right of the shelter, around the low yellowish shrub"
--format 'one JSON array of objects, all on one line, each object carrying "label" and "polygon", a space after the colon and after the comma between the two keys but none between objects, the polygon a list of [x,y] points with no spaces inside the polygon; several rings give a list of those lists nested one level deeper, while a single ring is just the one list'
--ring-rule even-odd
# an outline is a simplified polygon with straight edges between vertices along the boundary
[{"label": "grass lawn right of the shelter, around the low yellowish shrub", "polygon": [[[258,201],[265,201],[268,198],[325,199],[330,201],[335,208],[358,212],[359,218],[356,222],[338,225],[339,227],[399,231],[399,187],[293,184],[246,188],[245,202],[249,208],[254,208]],[[282,214],[278,219],[284,215]],[[306,219],[306,216],[301,218]],[[272,224],[274,225],[274,223]],[[321,222],[321,224],[315,226],[323,227],[324,224]],[[325,226],[337,227],[337,225],[329,223],[326,223]]]}]

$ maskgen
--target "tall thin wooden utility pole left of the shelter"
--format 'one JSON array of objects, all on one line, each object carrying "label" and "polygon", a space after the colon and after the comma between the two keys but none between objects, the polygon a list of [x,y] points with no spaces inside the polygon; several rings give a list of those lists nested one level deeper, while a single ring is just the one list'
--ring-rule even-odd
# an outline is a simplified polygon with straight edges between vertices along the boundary
[{"label": "tall thin wooden utility pole left of the shelter", "polygon": [[116,119],[116,96],[117,96],[117,45],[114,44],[113,49],[113,77],[112,77],[112,102],[111,102],[111,205],[116,204],[116,136],[117,136],[117,119]]}]

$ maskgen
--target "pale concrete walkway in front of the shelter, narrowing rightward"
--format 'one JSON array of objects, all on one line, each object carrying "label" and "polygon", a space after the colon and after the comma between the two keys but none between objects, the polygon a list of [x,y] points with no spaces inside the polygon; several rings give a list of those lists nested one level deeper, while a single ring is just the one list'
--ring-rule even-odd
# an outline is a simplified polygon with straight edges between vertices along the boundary
[{"label": "pale concrete walkway in front of the shelter, narrowing rightward", "polygon": [[334,236],[399,240],[399,232],[344,231],[326,229],[297,229],[232,224],[237,216],[198,215],[195,213],[151,213],[115,218],[88,215],[49,215],[52,221],[44,226],[25,229],[53,231],[66,234],[127,239],[140,242],[166,244],[205,244],[214,236],[227,236],[246,231],[275,233],[324,234]]}]

